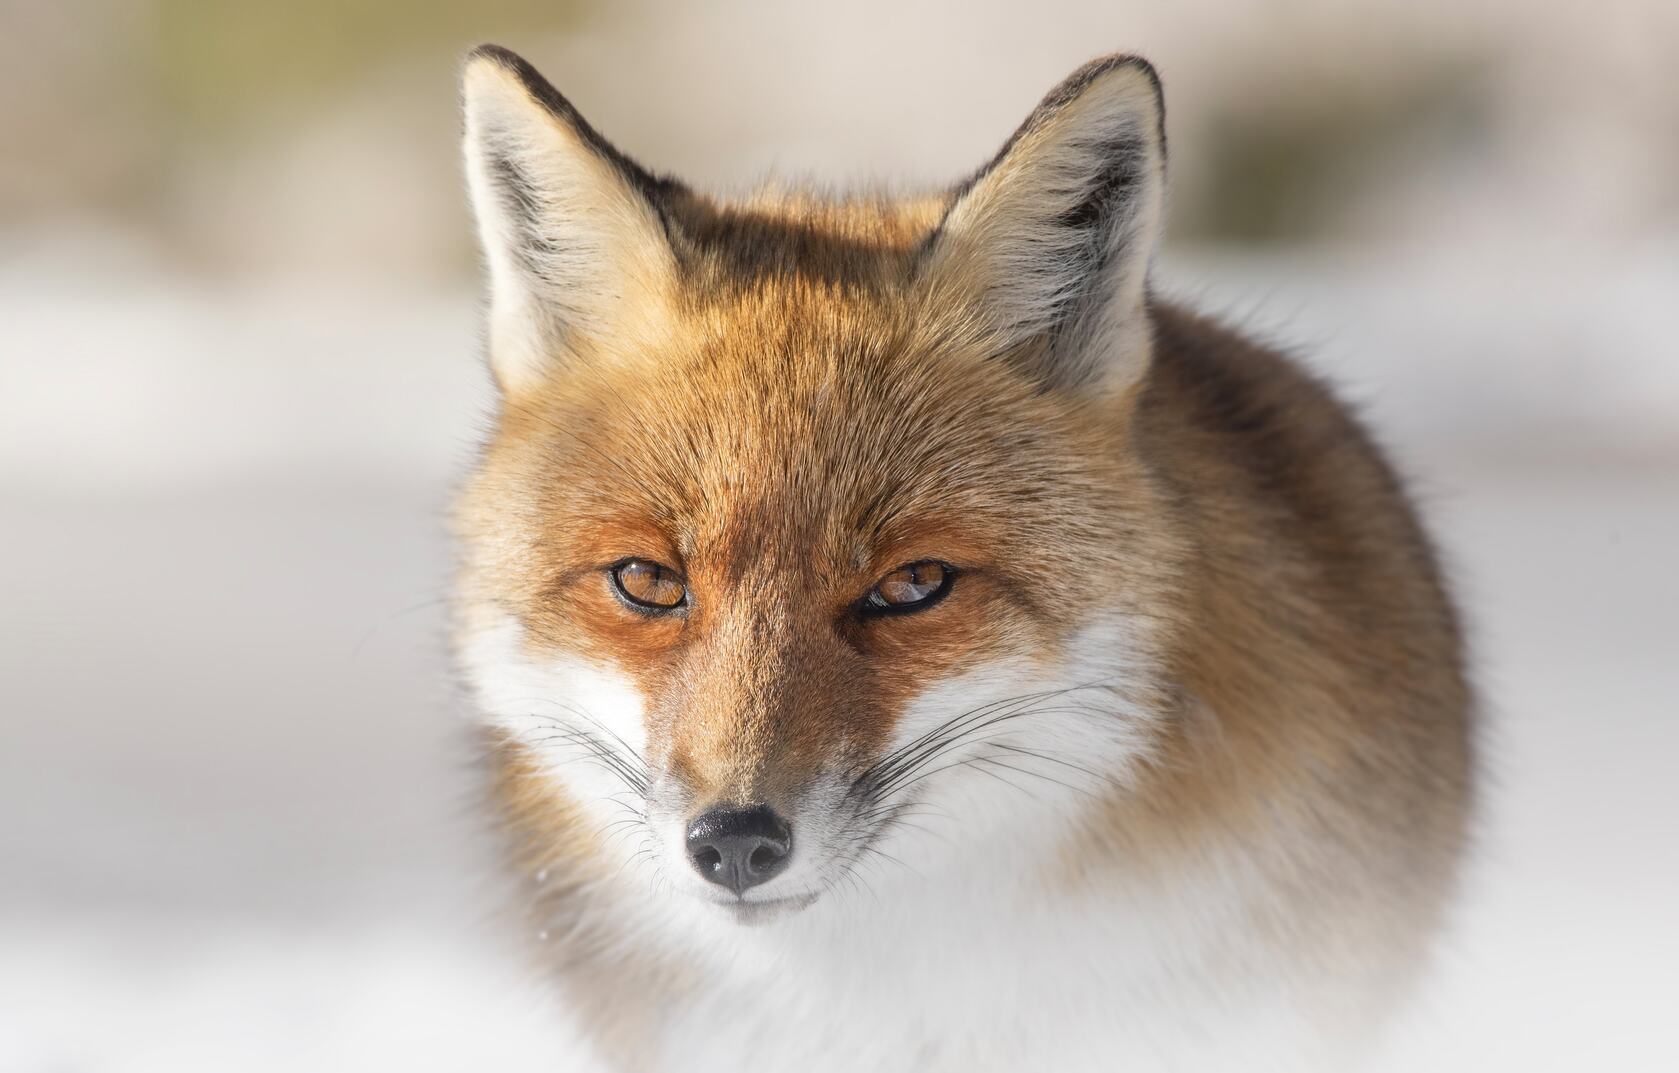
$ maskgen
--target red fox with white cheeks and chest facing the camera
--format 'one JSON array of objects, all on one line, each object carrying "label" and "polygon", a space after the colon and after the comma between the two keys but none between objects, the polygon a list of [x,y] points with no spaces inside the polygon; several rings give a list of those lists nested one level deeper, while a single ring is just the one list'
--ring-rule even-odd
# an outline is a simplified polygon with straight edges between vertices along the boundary
[{"label": "red fox with white cheeks and chest facing the camera", "polygon": [[462,86],[453,646],[557,1068],[1362,1061],[1467,855],[1462,630],[1360,420],[1155,292],[1155,67],[910,195]]}]

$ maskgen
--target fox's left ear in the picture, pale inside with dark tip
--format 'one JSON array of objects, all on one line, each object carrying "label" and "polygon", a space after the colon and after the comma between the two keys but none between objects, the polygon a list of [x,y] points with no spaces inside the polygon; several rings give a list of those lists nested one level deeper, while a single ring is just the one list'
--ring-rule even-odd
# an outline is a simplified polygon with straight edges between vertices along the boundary
[{"label": "fox's left ear in the picture, pale inside with dark tip", "polygon": [[490,277],[490,368],[507,393],[665,306],[662,203],[680,190],[615,149],[519,55],[482,45],[462,77],[465,163]]}]

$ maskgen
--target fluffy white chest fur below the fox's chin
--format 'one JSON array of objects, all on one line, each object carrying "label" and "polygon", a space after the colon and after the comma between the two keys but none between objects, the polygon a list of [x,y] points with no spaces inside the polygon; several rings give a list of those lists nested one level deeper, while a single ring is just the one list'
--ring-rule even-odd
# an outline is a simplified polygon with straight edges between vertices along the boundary
[{"label": "fluffy white chest fur below the fox's chin", "polygon": [[908,892],[762,927],[667,919],[702,982],[653,1019],[660,1068],[1345,1068],[1291,966],[1254,971],[1227,895],[1143,905],[1123,883],[1051,897],[982,875]]}]

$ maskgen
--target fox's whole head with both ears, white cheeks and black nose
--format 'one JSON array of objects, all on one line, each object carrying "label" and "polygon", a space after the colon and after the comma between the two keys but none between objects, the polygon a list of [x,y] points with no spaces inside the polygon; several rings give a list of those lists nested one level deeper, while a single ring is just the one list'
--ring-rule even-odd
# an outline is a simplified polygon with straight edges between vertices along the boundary
[{"label": "fox's whole head with both ears, white cheeks and black nose", "polygon": [[1110,57],[952,190],[722,202],[472,55],[458,648],[556,856],[747,919],[1127,779],[1179,559],[1133,435],[1162,116]]}]

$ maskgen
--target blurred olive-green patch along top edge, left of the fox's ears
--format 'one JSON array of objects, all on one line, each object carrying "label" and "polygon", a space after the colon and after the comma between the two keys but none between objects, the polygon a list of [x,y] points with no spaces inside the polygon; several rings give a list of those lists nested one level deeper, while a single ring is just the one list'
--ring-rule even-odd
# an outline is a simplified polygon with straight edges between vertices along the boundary
[{"label": "blurred olive-green patch along top edge, left of the fox's ears", "polygon": [[154,71],[170,116],[227,128],[341,91],[405,57],[576,27],[601,0],[154,0]]}]

